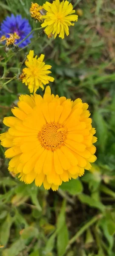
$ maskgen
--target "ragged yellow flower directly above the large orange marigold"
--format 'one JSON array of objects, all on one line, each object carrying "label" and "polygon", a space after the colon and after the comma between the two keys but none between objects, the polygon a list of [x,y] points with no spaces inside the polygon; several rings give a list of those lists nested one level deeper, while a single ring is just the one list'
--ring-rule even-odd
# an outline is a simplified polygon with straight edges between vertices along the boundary
[{"label": "ragged yellow flower directly above the large orange marigold", "polygon": [[22,82],[29,86],[30,93],[37,91],[39,87],[44,89],[43,84],[49,84],[49,81],[53,82],[54,78],[48,76],[52,73],[48,69],[51,69],[52,66],[45,65],[43,62],[45,55],[41,54],[39,58],[37,55],[34,58],[34,51],[30,50],[29,55],[25,61],[26,67],[23,69],[22,73]]}]

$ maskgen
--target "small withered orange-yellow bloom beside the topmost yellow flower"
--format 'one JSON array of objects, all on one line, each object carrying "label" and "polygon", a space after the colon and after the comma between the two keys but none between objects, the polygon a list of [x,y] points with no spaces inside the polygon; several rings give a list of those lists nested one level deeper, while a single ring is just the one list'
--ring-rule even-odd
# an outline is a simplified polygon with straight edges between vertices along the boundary
[{"label": "small withered orange-yellow bloom beside the topmost yellow flower", "polygon": [[31,17],[40,22],[42,22],[42,15],[40,14],[41,9],[43,9],[43,6],[39,6],[37,3],[32,3],[30,8]]}]

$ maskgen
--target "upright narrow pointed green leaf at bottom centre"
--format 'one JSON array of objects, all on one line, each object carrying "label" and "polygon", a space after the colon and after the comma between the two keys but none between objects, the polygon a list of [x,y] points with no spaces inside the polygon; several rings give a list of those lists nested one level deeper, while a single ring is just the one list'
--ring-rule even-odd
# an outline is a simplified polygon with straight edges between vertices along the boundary
[{"label": "upright narrow pointed green leaf at bottom centre", "polygon": [[69,241],[69,234],[66,227],[66,219],[65,219],[65,211],[66,211],[66,201],[63,201],[60,214],[58,216],[57,221],[57,249],[58,249],[58,256],[63,256],[66,251],[66,246]]}]

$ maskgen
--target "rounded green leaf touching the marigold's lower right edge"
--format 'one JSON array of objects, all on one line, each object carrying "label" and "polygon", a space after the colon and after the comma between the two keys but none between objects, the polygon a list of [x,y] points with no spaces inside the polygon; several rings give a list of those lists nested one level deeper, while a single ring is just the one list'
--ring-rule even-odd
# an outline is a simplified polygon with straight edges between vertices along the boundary
[{"label": "rounded green leaf touching the marigold's lower right edge", "polygon": [[71,195],[78,195],[83,191],[83,186],[80,180],[72,179],[69,182],[63,182],[60,189],[69,192]]}]

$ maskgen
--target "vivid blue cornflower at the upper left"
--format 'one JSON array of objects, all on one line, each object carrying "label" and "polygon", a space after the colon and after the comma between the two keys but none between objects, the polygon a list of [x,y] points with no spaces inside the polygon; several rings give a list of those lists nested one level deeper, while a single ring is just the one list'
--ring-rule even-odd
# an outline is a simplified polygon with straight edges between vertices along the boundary
[{"label": "vivid blue cornflower at the upper left", "polygon": [[[29,25],[29,21],[25,18],[22,18],[21,15],[11,14],[11,16],[7,16],[5,20],[1,23],[1,30],[0,30],[0,38],[2,36],[6,36],[6,38],[9,38],[10,35],[13,34],[14,38],[16,38],[16,45],[22,41],[26,35],[28,35],[31,32],[32,28]],[[28,38],[26,38],[23,43],[19,45],[19,47],[25,47],[30,43],[30,39],[32,38],[32,35],[30,35]]]}]

